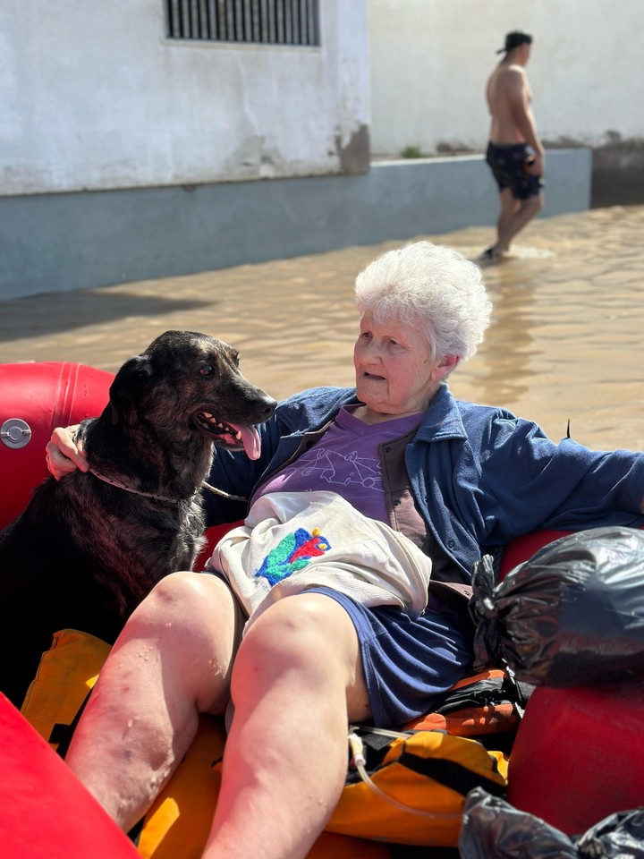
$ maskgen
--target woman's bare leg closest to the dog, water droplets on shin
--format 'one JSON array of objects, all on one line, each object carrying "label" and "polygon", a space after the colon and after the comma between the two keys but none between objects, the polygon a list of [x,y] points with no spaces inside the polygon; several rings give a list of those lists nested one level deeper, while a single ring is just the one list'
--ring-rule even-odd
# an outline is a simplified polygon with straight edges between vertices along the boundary
[{"label": "woman's bare leg closest to the dog, water droplets on shin", "polygon": [[223,712],[240,630],[216,576],[175,573],[132,614],[102,669],[66,761],[125,831],[190,746],[199,712]]}]

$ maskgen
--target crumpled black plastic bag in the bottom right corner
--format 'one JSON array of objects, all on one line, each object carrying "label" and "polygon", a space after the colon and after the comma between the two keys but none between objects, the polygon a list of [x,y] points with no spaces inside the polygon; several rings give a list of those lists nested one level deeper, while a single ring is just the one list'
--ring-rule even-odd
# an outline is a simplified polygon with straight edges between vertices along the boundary
[{"label": "crumpled black plastic bag in the bottom right corner", "polygon": [[611,814],[569,837],[528,812],[470,790],[459,837],[461,859],[644,859],[644,809]]}]

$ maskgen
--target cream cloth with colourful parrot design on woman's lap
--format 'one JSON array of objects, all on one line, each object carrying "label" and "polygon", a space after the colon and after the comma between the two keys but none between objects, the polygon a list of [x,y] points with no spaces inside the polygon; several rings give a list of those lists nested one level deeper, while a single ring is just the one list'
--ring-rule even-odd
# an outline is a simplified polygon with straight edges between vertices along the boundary
[{"label": "cream cloth with colourful parrot design on woman's lap", "polygon": [[319,585],[364,606],[419,615],[431,574],[411,540],[326,491],[258,498],[245,523],[217,543],[210,566],[227,578],[248,624],[276,600]]}]

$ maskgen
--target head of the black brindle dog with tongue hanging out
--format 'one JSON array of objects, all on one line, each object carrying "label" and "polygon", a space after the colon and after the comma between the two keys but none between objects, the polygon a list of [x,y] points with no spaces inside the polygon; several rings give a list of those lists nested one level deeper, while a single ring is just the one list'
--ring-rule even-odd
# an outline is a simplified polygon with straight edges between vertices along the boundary
[{"label": "head of the black brindle dog with tongue hanging out", "polygon": [[156,435],[199,433],[218,447],[259,456],[255,424],[276,402],[244,378],[232,346],[193,331],[166,331],[126,361],[110,387],[113,422]]}]

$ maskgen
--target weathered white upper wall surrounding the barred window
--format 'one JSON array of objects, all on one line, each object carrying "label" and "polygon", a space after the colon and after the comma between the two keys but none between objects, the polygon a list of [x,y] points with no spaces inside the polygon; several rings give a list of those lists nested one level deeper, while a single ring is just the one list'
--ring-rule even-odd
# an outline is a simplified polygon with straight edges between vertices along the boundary
[{"label": "weathered white upper wall surrounding the barred window", "polygon": [[366,0],[321,47],[165,38],[163,0],[3,0],[0,195],[360,172]]}]

